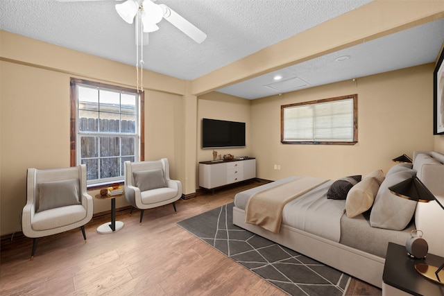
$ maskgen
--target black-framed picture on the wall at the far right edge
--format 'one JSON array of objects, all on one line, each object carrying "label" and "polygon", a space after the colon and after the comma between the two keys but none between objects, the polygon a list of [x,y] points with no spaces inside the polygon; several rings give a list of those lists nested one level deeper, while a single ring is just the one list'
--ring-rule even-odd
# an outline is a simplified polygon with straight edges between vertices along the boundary
[{"label": "black-framed picture on the wall at the far right edge", "polygon": [[444,51],[438,59],[433,72],[433,134],[444,134]]}]

